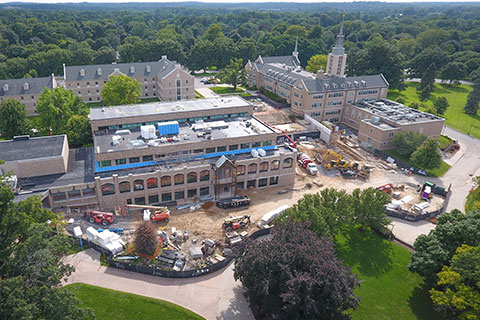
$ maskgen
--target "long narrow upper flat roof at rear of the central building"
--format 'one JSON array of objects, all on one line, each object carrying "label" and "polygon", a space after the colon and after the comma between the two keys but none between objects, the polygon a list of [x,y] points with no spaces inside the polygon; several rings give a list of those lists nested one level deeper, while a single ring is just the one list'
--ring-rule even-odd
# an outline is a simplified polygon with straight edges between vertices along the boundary
[{"label": "long narrow upper flat roof at rear of the central building", "polygon": [[168,113],[182,113],[209,109],[235,108],[251,105],[238,96],[210,99],[182,100],[174,102],[152,102],[144,104],[123,105],[104,108],[91,108],[90,120],[105,120],[126,117],[138,117]]}]

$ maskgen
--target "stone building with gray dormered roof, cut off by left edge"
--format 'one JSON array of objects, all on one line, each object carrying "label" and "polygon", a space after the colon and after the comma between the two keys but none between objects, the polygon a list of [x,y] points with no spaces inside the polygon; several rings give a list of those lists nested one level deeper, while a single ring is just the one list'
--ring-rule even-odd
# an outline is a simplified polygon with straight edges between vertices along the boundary
[{"label": "stone building with gray dormered roof, cut off by left edge", "polygon": [[43,89],[57,86],[54,75],[42,78],[23,78],[0,80],[0,103],[8,98],[20,101],[28,115],[35,115],[37,101]]}]

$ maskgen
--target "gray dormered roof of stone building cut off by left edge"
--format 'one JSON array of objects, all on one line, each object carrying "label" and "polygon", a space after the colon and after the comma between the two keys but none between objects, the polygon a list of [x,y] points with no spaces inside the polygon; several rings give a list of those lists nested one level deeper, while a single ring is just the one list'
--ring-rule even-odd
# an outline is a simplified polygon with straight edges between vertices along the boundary
[{"label": "gray dormered roof of stone building cut off by left edge", "polygon": [[[25,90],[25,83],[28,83],[28,88]],[[8,85],[8,90],[5,91],[5,84]],[[31,94],[41,93],[43,89],[52,89],[52,77],[42,78],[23,78],[23,79],[8,79],[0,80],[0,97],[12,96],[28,96]]]}]

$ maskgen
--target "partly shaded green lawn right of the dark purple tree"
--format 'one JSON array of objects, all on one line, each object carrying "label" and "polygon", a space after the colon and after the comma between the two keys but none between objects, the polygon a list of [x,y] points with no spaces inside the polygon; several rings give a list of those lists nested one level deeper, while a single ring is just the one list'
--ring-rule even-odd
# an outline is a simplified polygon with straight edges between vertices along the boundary
[{"label": "partly shaded green lawn right of the dark purple tree", "polygon": [[410,252],[375,233],[352,230],[335,239],[336,251],[358,276],[361,301],[354,320],[438,319],[423,278],[411,273]]}]

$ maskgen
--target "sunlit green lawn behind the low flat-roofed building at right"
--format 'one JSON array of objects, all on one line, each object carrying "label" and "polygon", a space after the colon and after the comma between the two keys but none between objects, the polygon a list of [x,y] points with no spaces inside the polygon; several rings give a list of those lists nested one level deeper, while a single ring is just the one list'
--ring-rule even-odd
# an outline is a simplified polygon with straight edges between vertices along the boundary
[{"label": "sunlit green lawn behind the low flat-roofed building at right", "polygon": [[444,96],[450,105],[444,115],[446,124],[453,129],[480,139],[480,116],[468,115],[463,112],[463,107],[467,102],[467,95],[472,90],[472,86],[449,86],[447,84],[437,83],[435,84],[435,90],[431,94],[430,99],[421,102],[416,90],[420,83],[406,82],[406,84],[407,88],[404,91],[389,90],[387,98],[397,100],[398,97],[403,97],[406,105],[410,105],[413,101],[425,105],[433,105],[433,101],[435,101],[437,97]]}]

